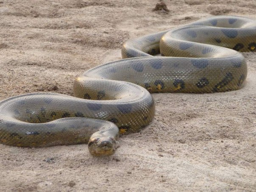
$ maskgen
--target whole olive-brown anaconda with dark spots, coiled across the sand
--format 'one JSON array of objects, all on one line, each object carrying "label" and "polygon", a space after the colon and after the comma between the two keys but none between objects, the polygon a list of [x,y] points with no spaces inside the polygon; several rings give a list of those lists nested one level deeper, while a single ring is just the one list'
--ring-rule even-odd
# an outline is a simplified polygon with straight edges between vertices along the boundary
[{"label": "whole olive-brown anaconda with dark spots, coiled across the sand", "polygon": [[247,65],[237,51],[256,51],[255,20],[211,17],[129,40],[122,47],[126,59],[75,79],[75,97],[31,93],[1,101],[0,142],[20,147],[88,142],[92,155],[113,154],[119,133],[153,120],[150,93],[240,89]]}]

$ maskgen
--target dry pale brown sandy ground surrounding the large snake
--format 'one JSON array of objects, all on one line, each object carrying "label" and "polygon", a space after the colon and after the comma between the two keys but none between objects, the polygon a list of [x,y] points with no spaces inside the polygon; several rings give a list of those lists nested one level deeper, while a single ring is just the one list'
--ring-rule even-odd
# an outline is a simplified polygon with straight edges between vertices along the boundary
[{"label": "dry pale brown sandy ground surrounding the large snake", "polygon": [[[213,15],[256,19],[256,0],[0,0],[0,100],[72,95],[83,71],[121,59],[128,39]],[[238,91],[153,94],[156,117],[113,156],[87,145],[0,145],[0,191],[256,191],[256,53]]]}]

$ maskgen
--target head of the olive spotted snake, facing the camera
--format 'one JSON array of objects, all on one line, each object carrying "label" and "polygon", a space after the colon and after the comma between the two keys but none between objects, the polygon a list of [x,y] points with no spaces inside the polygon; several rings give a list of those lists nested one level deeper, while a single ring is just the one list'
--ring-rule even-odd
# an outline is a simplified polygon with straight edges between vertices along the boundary
[{"label": "head of the olive spotted snake, facing the camera", "polygon": [[110,136],[91,137],[88,148],[93,156],[109,156],[116,151],[117,141]]}]

